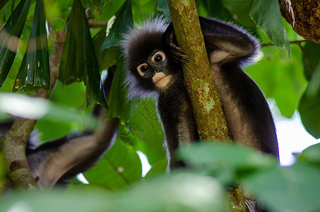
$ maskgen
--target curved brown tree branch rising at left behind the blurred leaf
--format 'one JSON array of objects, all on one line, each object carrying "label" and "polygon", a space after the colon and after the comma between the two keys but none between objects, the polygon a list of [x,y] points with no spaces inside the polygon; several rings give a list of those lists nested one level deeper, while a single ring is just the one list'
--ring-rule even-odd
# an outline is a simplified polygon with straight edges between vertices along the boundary
[{"label": "curved brown tree branch rising at left behind the blurred leaf", "polygon": [[[50,55],[50,88],[57,83],[59,75],[59,65],[61,61],[62,49],[64,47],[64,33],[57,32],[56,54]],[[51,93],[45,90],[38,90],[34,96],[49,98]],[[25,156],[25,146],[28,138],[35,127],[37,120],[17,118],[11,129],[0,138],[1,151],[6,162],[8,177],[16,187],[22,189],[37,189],[37,183],[33,179],[27,158]]]}]

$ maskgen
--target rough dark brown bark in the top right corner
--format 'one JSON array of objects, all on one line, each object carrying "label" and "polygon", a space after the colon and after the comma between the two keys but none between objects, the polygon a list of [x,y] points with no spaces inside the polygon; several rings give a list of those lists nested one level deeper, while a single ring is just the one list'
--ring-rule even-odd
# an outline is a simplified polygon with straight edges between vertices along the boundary
[{"label": "rough dark brown bark in the top right corner", "polygon": [[278,0],[278,2],[281,15],[298,35],[320,43],[320,0]]}]

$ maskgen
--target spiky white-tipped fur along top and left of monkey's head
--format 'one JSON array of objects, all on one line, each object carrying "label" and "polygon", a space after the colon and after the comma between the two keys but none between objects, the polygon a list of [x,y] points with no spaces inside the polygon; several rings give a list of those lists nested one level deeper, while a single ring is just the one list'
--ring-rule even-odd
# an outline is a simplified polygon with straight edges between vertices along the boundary
[{"label": "spiky white-tipped fur along top and left of monkey's head", "polygon": [[[137,80],[136,66],[146,61],[155,49],[162,49],[162,35],[167,29],[167,20],[163,17],[149,18],[138,28],[129,28],[123,35],[122,53],[126,58],[126,87],[128,98],[148,98],[157,95],[153,85],[141,85]],[[151,82],[150,82],[151,83]]]}]

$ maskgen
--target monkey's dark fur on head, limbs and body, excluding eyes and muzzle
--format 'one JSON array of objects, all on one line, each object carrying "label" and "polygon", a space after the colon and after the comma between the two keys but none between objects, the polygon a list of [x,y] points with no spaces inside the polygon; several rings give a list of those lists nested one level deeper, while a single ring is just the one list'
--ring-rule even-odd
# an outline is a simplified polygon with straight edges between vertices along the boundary
[{"label": "monkey's dark fur on head, limbs and body, excluding eyes and muzzle", "polygon": [[[199,20],[232,139],[278,158],[275,125],[266,99],[240,68],[256,56],[259,42],[230,23],[203,17]],[[181,143],[198,140],[198,133],[182,74],[186,57],[177,47],[172,23],[165,25],[157,19],[141,29],[131,29],[124,36],[122,47],[128,70],[129,98],[158,95],[158,114],[165,131],[170,167],[183,166],[183,162],[172,160],[172,155]],[[141,77],[136,69],[139,64],[148,63],[158,50],[167,57],[162,72],[174,76],[165,89],[156,88],[152,75]]]}]

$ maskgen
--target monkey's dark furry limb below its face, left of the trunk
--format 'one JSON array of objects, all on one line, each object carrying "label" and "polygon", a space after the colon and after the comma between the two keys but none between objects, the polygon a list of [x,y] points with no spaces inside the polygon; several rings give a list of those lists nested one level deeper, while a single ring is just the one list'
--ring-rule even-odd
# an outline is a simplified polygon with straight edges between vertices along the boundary
[{"label": "monkey's dark furry limb below its face, left of the trunk", "polygon": [[172,92],[159,95],[158,113],[165,131],[168,168],[185,167],[183,161],[174,157],[174,151],[184,143],[197,141],[198,131],[183,78],[174,84]]}]

